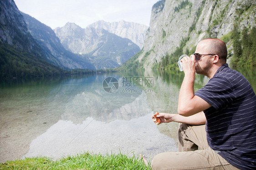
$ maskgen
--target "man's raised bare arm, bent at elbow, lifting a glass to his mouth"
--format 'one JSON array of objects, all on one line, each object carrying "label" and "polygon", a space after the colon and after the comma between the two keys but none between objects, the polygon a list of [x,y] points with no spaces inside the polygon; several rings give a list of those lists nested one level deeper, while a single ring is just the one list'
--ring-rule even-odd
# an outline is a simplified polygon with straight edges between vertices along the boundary
[{"label": "man's raised bare arm, bent at elbow, lifting a glass to his mouth", "polygon": [[189,57],[184,57],[182,62],[184,62],[185,75],[179,92],[178,113],[183,116],[191,116],[208,109],[211,105],[194,95],[195,56],[192,55],[192,60]]}]

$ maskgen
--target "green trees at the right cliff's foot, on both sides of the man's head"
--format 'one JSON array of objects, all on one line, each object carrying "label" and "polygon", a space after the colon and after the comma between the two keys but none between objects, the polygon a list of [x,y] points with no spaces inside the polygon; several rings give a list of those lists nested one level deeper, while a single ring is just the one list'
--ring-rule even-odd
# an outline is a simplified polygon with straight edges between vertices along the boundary
[{"label": "green trees at the right cliff's foot, on both sides of the man's head", "polygon": [[[177,68],[176,62],[180,55],[193,54],[195,47],[191,50],[184,49],[189,37],[181,40],[179,47],[176,47],[175,51],[170,55],[165,55],[155,68],[172,70]],[[234,25],[234,29],[231,32],[231,37],[227,41],[232,41],[234,55],[231,59],[231,65],[234,67],[255,67],[256,66],[256,27],[253,27],[250,31],[245,27],[241,32],[238,25]],[[227,42],[226,42],[227,43]]]}]

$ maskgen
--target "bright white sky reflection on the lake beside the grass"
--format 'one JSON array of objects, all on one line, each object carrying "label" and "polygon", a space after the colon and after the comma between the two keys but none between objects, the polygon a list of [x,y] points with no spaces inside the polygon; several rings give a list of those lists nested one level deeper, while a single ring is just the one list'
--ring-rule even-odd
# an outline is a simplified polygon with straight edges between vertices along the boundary
[{"label": "bright white sky reflection on the lake beside the grass", "polygon": [[167,150],[176,151],[174,139],[159,133],[150,115],[129,121],[114,120],[108,124],[91,117],[77,125],[72,121],[59,120],[32,141],[25,156],[60,158],[89,150],[102,154],[134,151],[136,155],[143,153],[149,158],[150,155]]}]

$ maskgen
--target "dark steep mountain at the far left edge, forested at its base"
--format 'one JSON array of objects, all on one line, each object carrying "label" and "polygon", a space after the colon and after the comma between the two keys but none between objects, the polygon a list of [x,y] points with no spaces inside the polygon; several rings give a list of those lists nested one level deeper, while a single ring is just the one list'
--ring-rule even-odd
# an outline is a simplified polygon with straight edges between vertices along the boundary
[{"label": "dark steep mountain at the far left edge, forested at its base", "polygon": [[61,74],[32,37],[13,0],[0,0],[0,77]]}]

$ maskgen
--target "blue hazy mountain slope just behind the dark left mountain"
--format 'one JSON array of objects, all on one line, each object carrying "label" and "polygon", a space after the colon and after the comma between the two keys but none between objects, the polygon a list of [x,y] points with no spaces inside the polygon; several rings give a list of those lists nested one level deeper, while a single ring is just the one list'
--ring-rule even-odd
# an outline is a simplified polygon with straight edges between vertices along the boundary
[{"label": "blue hazy mountain slope just behind the dark left mountain", "polygon": [[43,49],[47,60],[52,64],[65,69],[88,69],[94,70],[95,67],[90,63],[87,57],[73,54],[67,51],[58,37],[56,37],[50,27],[40,21],[23,13],[26,25],[36,42]]}]

